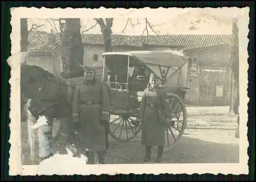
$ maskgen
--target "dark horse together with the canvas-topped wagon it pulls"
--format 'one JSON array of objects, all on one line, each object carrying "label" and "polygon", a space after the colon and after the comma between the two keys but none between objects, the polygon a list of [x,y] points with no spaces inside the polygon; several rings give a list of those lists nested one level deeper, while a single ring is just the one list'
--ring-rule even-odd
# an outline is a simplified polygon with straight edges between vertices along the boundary
[{"label": "dark horse together with the canvas-topped wagon it pulls", "polygon": [[[172,113],[171,121],[166,123],[164,151],[173,148],[186,126],[184,98],[190,59],[173,51],[108,52],[102,56],[102,82],[109,86],[111,95],[110,136],[117,141],[140,137],[140,99],[153,72],[168,95]],[[33,65],[22,65],[20,77],[20,91],[32,100],[28,109],[35,118],[30,122],[35,123],[39,115],[47,116],[51,126],[54,118],[72,119],[74,91],[83,77],[64,79]],[[56,141],[65,128],[71,127],[60,127],[52,140]]]}]

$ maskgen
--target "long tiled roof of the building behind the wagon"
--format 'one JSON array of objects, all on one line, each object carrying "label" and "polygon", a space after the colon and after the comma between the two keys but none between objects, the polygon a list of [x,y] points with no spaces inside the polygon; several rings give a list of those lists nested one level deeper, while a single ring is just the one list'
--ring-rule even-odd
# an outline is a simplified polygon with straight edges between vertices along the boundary
[{"label": "long tiled roof of the building behind the wagon", "polygon": [[[211,47],[216,45],[230,44],[232,35],[150,35],[150,36],[127,36],[113,34],[112,45],[142,46],[142,42],[152,46],[182,46],[186,50]],[[47,32],[32,31],[29,34],[30,53],[53,53],[60,45],[60,38],[56,34],[55,45],[50,45]],[[83,34],[83,44],[103,45],[101,34]]]}]

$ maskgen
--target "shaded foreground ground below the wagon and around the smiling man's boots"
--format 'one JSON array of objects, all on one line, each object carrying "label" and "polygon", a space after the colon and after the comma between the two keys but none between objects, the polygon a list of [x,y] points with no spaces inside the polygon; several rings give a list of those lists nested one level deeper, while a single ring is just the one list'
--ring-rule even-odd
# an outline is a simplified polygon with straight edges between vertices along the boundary
[{"label": "shaded foreground ground below the wagon and around the smiling man's boots", "polygon": [[[140,145],[139,139],[129,142],[113,141],[106,155],[106,162],[140,164],[143,163],[144,152],[144,146]],[[154,163],[156,155],[157,151],[152,149],[152,160],[148,163]],[[183,136],[173,149],[164,152],[162,163],[239,163],[239,145]]]}]

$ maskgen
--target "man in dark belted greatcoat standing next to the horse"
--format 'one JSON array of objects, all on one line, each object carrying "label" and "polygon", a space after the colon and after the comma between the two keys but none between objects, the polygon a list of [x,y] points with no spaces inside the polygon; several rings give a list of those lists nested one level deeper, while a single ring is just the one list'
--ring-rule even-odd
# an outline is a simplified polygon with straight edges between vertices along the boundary
[{"label": "man in dark belted greatcoat standing next to the horse", "polygon": [[[80,151],[88,157],[88,163],[104,164],[106,150],[105,124],[109,123],[110,96],[107,86],[96,81],[95,70],[84,69],[84,81],[77,84],[73,101],[73,123],[78,132]],[[85,151],[86,150],[86,151]]]}]

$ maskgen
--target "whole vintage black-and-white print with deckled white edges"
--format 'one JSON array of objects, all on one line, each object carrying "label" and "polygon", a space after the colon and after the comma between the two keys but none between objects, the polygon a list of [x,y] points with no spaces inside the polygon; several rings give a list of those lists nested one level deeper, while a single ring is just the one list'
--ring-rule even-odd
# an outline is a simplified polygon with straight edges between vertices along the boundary
[{"label": "whole vintage black-and-white print with deckled white edges", "polygon": [[27,174],[124,164],[246,174],[248,8],[18,9],[10,118]]}]

